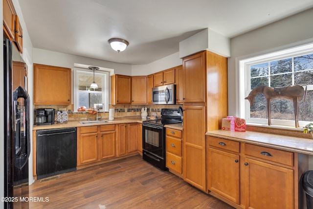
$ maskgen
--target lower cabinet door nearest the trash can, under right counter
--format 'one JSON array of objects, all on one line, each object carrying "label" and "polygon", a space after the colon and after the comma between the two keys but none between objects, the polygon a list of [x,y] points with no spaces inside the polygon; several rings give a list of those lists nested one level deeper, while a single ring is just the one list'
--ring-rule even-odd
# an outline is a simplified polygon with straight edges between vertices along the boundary
[{"label": "lower cabinet door nearest the trash can, under right counter", "polygon": [[244,166],[246,209],[294,208],[292,169],[249,158]]}]

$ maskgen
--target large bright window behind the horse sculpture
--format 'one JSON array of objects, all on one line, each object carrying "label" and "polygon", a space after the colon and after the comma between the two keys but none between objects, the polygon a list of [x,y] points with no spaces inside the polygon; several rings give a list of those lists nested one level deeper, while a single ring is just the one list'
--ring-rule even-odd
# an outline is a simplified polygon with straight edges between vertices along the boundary
[{"label": "large bright window behind the horse sculpture", "polygon": [[[307,89],[305,99],[299,102],[300,127],[313,120],[313,44],[293,47],[239,61],[240,117],[247,123],[268,124],[267,101],[257,94],[250,107],[245,97],[255,87],[271,88],[301,85]],[[293,102],[286,99],[271,101],[271,124],[294,127]]]}]

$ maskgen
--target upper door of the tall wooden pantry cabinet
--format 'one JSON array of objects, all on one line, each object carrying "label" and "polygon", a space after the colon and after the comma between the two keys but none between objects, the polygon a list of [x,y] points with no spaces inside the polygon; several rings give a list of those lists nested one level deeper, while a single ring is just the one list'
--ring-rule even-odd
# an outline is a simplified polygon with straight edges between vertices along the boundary
[{"label": "upper door of the tall wooden pantry cabinet", "polygon": [[205,102],[205,51],[182,60],[184,102]]}]

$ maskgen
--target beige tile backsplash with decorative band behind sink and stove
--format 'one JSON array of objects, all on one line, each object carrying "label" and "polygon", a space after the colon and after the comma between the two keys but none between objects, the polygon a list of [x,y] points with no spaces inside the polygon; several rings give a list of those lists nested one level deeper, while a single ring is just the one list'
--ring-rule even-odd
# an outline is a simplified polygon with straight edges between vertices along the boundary
[{"label": "beige tile backsplash with decorative band behind sink and stove", "polygon": [[[141,116],[141,108],[146,107],[148,116],[153,116],[153,114],[157,116],[161,116],[161,109],[178,109],[181,105],[109,105],[110,109],[114,109],[115,117],[123,117],[123,116]],[[68,113],[68,120],[81,120],[87,119],[86,114],[88,113],[78,113],[73,112],[74,105],[34,105],[34,110],[38,108],[54,108],[56,111],[60,109],[66,109]],[[76,111],[76,110],[75,110]],[[91,120],[95,115],[88,114]],[[102,116],[104,118],[109,117],[109,112],[99,113],[98,116]],[[36,114],[34,113],[34,119],[36,120]],[[95,119],[95,118],[94,118]]]}]

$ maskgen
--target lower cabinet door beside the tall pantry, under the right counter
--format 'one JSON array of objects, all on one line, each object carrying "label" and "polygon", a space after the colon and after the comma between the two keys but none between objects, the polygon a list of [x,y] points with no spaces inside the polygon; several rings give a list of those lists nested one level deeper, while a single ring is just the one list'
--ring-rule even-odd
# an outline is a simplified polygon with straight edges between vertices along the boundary
[{"label": "lower cabinet door beside the tall pantry, under the right counter", "polygon": [[240,204],[239,155],[209,148],[209,190]]}]

